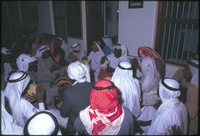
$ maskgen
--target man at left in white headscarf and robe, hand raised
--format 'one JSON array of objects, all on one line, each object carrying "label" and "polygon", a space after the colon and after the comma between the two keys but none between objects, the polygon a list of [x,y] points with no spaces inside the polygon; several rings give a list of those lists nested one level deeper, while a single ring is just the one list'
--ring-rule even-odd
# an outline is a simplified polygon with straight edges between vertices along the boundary
[{"label": "man at left in white headscarf and robe, hand raised", "polygon": [[45,90],[38,86],[35,99],[39,103],[39,109],[34,107],[29,101],[22,97],[29,89],[31,84],[30,77],[22,71],[15,72],[8,78],[8,84],[4,90],[5,98],[8,102],[8,112],[16,120],[17,124],[24,126],[27,119],[38,111],[45,110],[43,96]]}]

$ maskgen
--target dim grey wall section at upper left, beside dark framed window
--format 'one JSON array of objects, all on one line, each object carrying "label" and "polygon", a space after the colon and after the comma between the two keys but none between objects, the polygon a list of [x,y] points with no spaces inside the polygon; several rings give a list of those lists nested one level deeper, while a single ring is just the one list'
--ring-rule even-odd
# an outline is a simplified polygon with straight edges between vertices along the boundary
[{"label": "dim grey wall section at upper left, beside dark framed window", "polygon": [[55,34],[52,1],[38,2],[38,33]]}]

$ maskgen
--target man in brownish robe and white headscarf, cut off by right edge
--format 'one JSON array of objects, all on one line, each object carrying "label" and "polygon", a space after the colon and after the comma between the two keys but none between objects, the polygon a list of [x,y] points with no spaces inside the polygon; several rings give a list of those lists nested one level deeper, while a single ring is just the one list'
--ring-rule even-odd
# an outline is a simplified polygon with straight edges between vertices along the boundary
[{"label": "man in brownish robe and white headscarf, cut off by right edge", "polygon": [[184,68],[177,70],[173,76],[173,79],[177,80],[187,90],[185,106],[189,111],[189,135],[198,133],[198,68],[199,61],[190,60]]}]

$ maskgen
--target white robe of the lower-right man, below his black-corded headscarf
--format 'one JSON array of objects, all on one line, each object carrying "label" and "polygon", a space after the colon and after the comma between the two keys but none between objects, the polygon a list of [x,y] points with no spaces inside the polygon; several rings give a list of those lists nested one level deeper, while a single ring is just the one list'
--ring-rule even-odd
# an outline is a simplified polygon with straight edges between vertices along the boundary
[{"label": "white robe of the lower-right man, below his black-corded headscarf", "polygon": [[183,135],[187,133],[188,115],[185,105],[177,98],[172,98],[160,105],[145,135],[169,135],[171,126],[180,126]]}]

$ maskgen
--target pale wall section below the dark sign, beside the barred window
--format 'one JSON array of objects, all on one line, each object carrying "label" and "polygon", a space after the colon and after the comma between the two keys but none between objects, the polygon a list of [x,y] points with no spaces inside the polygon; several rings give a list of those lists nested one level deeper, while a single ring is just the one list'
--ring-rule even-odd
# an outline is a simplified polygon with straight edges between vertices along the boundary
[{"label": "pale wall section below the dark sign, beside the barred window", "polygon": [[140,46],[154,49],[155,25],[158,3],[143,1],[143,8],[128,8],[128,1],[119,1],[119,39],[129,55],[137,56]]}]

